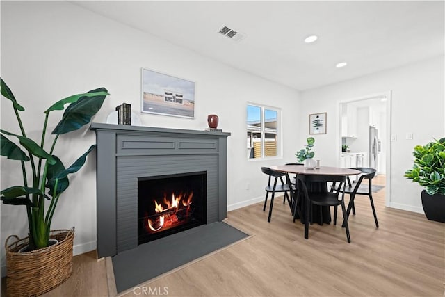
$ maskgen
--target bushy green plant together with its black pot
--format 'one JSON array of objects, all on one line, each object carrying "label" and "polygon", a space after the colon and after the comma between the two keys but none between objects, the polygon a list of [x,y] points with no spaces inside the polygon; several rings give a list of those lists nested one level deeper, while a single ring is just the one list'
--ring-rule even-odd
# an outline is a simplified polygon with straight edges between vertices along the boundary
[{"label": "bushy green plant together with its black pot", "polygon": [[445,223],[445,138],[414,147],[414,165],[405,177],[423,188],[423,211],[428,220]]}]

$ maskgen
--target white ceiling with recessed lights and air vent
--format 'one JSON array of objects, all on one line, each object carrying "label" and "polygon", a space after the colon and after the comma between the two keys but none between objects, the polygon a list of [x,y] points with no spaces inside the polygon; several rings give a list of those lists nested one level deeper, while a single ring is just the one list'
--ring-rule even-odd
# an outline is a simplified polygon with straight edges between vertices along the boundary
[{"label": "white ceiling with recessed lights and air vent", "polygon": [[[444,1],[73,1],[297,90],[439,56]],[[227,25],[247,37],[220,35]],[[316,34],[318,40],[303,40]],[[348,65],[336,68],[346,61]]]}]

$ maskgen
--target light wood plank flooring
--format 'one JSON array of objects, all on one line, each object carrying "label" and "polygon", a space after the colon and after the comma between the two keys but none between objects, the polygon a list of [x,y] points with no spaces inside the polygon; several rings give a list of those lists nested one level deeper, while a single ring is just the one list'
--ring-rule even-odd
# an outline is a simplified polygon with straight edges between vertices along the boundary
[{"label": "light wood plank flooring", "polygon": [[[444,296],[445,224],[386,208],[385,188],[373,196],[380,227],[368,198],[357,196],[352,243],[341,224],[311,225],[304,239],[282,198],[270,223],[262,203],[230,211],[227,222],[253,236],[145,284],[145,296]],[[104,261],[74,257],[72,277],[44,296],[108,296]]]}]

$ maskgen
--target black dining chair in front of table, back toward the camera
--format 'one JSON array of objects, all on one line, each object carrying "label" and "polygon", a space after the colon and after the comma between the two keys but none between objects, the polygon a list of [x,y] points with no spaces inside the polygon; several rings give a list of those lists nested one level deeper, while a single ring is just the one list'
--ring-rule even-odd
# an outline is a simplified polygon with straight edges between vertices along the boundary
[{"label": "black dining chair in front of table, back toward the camera", "polygon": [[[348,243],[350,243],[350,234],[348,227],[348,216],[346,215],[346,207],[344,203],[344,184],[346,183],[346,175],[298,175],[297,177],[298,188],[305,198],[305,239],[309,239],[309,219],[312,215],[312,204],[318,205],[320,207],[337,207],[341,205],[341,211],[343,213],[343,225],[346,229],[346,238]],[[318,182],[336,183],[341,191],[323,191],[323,192],[309,192],[307,185]],[[337,218],[334,216],[334,225],[337,225]]]}]

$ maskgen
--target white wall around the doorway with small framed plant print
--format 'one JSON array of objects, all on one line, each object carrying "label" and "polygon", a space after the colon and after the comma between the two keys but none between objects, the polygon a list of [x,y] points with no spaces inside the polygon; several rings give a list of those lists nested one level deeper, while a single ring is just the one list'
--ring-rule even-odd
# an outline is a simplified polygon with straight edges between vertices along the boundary
[{"label": "white wall around the doorway with small framed plant print", "polygon": [[[391,142],[391,151],[387,152],[387,158],[391,159],[391,168],[387,168],[386,172],[391,179],[390,206],[423,212],[421,187],[403,175],[405,170],[412,168],[415,145],[424,145],[432,138],[445,136],[444,84],[444,56],[439,56],[332,86],[307,90],[301,93],[300,126],[302,131],[307,131],[309,113],[327,112],[328,133],[316,136],[315,152],[323,165],[335,166],[339,145],[337,150],[335,147],[322,150],[321,147],[332,147],[332,143],[339,143],[339,102],[391,90],[391,134],[397,136],[397,141]],[[412,132],[414,139],[406,140],[407,132]]]}]

